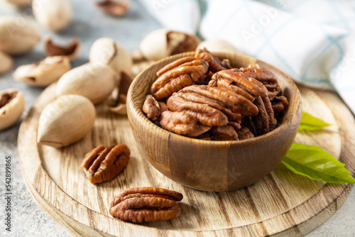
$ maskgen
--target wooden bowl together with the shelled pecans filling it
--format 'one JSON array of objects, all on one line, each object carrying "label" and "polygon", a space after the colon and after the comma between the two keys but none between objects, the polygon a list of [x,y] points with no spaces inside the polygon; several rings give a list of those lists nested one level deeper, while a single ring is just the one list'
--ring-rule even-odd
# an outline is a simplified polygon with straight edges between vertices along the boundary
[{"label": "wooden bowl together with the shelled pecans filling it", "polygon": [[229,191],[268,175],[295,139],[300,92],[253,57],[206,49],[166,57],[141,72],[127,113],[143,156],[186,187]]}]

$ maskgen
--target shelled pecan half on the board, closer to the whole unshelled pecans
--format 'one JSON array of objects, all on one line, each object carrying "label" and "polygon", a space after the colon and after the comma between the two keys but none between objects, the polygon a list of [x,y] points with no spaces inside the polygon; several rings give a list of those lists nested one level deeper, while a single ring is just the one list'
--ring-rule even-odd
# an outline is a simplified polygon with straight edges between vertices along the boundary
[{"label": "shelled pecan half on the board, closer to the whole unshelled pecans", "polygon": [[92,184],[111,181],[127,166],[131,151],[124,144],[106,148],[99,145],[84,156],[79,165]]}]

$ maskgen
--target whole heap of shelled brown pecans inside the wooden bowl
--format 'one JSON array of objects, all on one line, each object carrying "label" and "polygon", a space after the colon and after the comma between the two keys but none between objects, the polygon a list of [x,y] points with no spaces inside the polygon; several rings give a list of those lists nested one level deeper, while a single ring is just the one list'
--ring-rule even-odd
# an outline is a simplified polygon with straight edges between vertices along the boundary
[{"label": "whole heap of shelled brown pecans inside the wooden bowl", "polygon": [[273,131],[288,99],[272,72],[231,68],[208,50],[160,69],[143,104],[151,121],[203,140],[245,140]]}]

